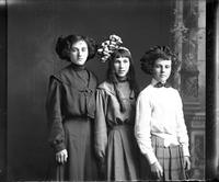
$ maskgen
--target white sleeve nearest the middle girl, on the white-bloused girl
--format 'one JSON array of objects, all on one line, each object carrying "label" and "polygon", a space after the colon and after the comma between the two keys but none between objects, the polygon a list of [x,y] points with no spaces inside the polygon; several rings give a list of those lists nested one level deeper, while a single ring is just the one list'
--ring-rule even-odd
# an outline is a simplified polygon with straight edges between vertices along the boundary
[{"label": "white sleeve nearest the middle girl, on the white-bloused girl", "polygon": [[146,156],[150,164],[158,161],[151,145],[151,112],[149,95],[139,94],[136,104],[135,136],[142,155]]}]

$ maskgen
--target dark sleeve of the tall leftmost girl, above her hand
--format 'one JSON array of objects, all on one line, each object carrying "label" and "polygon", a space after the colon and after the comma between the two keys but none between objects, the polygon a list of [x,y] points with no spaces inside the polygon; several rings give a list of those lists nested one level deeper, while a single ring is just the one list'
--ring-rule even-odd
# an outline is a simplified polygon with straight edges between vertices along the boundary
[{"label": "dark sleeve of the tall leftmost girl, above her hand", "polygon": [[66,148],[61,115],[61,83],[53,76],[49,79],[46,110],[49,126],[48,141],[55,152],[58,152]]}]

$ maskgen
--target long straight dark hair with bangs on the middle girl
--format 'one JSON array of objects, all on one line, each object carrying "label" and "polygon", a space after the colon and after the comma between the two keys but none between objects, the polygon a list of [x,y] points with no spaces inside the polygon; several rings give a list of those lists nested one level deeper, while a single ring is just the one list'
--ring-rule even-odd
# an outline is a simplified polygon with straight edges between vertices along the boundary
[{"label": "long straight dark hair with bangs on the middle girl", "polygon": [[118,79],[116,76],[116,71],[114,69],[114,61],[116,58],[119,58],[119,57],[127,57],[130,61],[129,71],[127,73],[127,81],[129,82],[130,90],[132,90],[135,92],[136,99],[139,93],[139,88],[136,82],[134,61],[132,61],[130,52],[125,47],[120,47],[120,48],[116,49],[108,58],[107,80],[114,84],[116,96],[117,96],[119,105],[120,105],[120,111],[124,112],[124,111],[126,111],[126,107],[125,107],[125,103],[122,100],[120,93],[117,89]]}]

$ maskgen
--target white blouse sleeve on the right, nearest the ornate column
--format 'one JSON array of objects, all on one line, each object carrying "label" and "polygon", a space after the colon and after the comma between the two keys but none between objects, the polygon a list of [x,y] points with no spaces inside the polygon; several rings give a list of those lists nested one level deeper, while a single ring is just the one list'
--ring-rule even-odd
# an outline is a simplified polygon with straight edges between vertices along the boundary
[{"label": "white blouse sleeve on the right, nearest the ornate column", "polygon": [[186,129],[184,114],[183,114],[183,103],[182,103],[181,95],[177,91],[176,91],[176,101],[177,101],[177,107],[176,107],[177,137],[178,137],[180,144],[183,146],[184,156],[189,156],[188,135],[187,135],[187,129]]}]

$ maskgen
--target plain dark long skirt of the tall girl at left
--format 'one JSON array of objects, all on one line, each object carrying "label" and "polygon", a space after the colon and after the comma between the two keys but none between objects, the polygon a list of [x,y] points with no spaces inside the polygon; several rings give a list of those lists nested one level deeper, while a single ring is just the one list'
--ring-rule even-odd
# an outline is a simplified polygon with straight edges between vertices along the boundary
[{"label": "plain dark long skirt of the tall girl at left", "polygon": [[84,118],[64,124],[68,161],[56,163],[56,181],[96,181],[97,166],[93,149],[93,123]]}]

